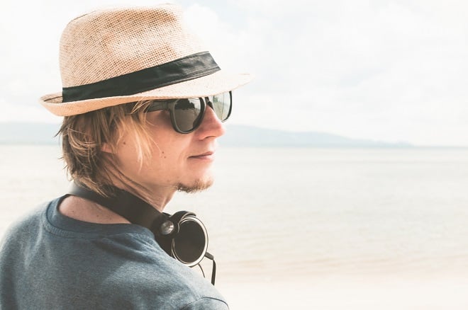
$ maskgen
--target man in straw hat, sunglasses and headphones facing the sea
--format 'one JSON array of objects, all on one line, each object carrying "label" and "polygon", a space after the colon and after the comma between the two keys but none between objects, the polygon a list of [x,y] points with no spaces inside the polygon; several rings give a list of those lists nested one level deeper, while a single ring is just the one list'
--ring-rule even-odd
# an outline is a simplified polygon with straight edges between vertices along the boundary
[{"label": "man in straw hat, sunglasses and headphones facing the sea", "polygon": [[[216,138],[248,74],[227,74],[177,6],[94,11],[60,41],[60,136],[72,190],[7,232],[0,309],[227,309],[191,266],[206,231],[162,211],[213,182]],[[214,279],[213,279],[214,280]]]}]

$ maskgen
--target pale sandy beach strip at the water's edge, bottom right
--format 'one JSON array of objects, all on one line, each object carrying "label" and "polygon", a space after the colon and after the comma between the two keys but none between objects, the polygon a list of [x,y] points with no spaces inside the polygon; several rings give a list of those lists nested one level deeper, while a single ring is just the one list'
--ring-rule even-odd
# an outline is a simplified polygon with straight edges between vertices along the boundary
[{"label": "pale sandy beach strip at the water's edge, bottom right", "polygon": [[324,276],[217,285],[230,309],[465,310],[468,280]]}]

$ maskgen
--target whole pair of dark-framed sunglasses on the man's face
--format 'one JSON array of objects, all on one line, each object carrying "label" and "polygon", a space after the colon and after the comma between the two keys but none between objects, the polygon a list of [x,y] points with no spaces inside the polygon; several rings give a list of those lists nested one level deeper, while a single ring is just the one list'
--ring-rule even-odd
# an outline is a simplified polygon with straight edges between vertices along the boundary
[{"label": "whole pair of dark-framed sunglasses on the man's face", "polygon": [[152,101],[146,112],[169,110],[172,127],[181,134],[188,134],[203,122],[206,105],[209,105],[216,116],[225,122],[233,108],[232,91],[204,98],[180,98],[165,101]]}]

